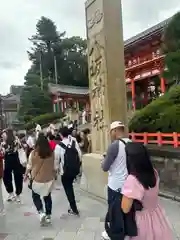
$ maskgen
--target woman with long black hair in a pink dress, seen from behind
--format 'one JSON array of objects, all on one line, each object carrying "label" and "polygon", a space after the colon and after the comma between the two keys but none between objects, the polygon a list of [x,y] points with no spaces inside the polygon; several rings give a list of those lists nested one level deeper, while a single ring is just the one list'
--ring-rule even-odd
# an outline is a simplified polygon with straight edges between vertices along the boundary
[{"label": "woman with long black hair in a pink dress, seen from behind", "polygon": [[146,147],[140,143],[126,146],[129,176],[122,189],[122,210],[128,213],[136,199],[143,210],[136,212],[138,236],[128,240],[172,240],[172,230],[159,199],[159,177]]}]

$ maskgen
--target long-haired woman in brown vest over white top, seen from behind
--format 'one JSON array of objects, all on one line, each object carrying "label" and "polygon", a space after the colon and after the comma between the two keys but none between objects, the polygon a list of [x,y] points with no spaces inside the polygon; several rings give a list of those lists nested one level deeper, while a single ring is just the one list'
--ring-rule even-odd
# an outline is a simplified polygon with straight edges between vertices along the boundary
[{"label": "long-haired woman in brown vest over white top, seen from behind", "polygon": [[[54,153],[49,145],[47,137],[40,133],[35,144],[35,149],[29,156],[25,180],[31,172],[31,189],[33,203],[39,213],[40,223],[51,223],[52,198],[51,191],[59,168],[55,161]],[[45,212],[42,200],[44,200]]]}]

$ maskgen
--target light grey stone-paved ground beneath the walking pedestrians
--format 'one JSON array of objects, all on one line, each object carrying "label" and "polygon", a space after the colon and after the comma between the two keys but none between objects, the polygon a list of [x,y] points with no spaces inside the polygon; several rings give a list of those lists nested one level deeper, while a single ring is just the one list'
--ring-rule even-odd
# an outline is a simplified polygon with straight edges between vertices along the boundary
[{"label": "light grey stone-paved ground beneath the walking pedestrians", "polygon": [[[77,190],[79,193],[81,217],[68,216],[63,189],[57,187],[53,192],[53,224],[42,228],[25,187],[23,204],[5,204],[6,216],[0,217],[0,240],[100,240],[106,204]],[[161,201],[173,226],[174,239],[180,239],[180,205],[170,200]]]}]

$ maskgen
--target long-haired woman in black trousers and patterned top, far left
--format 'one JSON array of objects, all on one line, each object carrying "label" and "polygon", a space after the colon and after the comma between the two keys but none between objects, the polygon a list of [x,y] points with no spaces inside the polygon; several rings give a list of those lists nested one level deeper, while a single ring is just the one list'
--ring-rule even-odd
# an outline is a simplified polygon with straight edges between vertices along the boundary
[{"label": "long-haired woman in black trousers and patterned top, far left", "polygon": [[[20,195],[23,189],[23,167],[19,160],[18,150],[21,148],[19,139],[14,135],[12,129],[8,129],[6,138],[2,143],[4,151],[4,185],[8,192],[8,201],[16,200],[21,202]],[[14,182],[16,192],[14,195],[12,174],[14,175]]]}]

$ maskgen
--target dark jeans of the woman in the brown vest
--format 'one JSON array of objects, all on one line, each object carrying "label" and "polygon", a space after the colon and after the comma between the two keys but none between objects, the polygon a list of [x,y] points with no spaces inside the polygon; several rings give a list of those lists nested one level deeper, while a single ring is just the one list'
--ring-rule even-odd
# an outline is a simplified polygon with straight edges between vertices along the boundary
[{"label": "dark jeans of the woman in the brown vest", "polygon": [[[34,202],[34,205],[37,209],[38,212],[43,212],[43,204],[41,200],[41,196],[34,191],[32,191],[32,199]],[[45,205],[45,210],[46,210],[46,215],[51,215],[52,213],[52,198],[51,198],[51,193],[48,196],[43,197],[44,200],[44,205]]]}]

